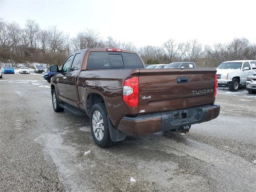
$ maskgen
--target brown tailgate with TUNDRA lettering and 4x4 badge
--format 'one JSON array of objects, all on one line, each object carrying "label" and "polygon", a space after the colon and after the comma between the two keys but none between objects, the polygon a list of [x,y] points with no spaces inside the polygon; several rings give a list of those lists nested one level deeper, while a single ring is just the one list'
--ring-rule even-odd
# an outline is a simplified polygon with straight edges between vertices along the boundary
[{"label": "brown tailgate with TUNDRA lettering and 4x4 badge", "polygon": [[140,69],[139,113],[213,104],[215,68]]}]

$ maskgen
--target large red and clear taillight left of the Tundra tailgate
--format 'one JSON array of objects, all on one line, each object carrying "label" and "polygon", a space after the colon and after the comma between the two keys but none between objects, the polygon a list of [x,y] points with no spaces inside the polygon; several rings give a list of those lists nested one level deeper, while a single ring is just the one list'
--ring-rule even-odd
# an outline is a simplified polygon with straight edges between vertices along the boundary
[{"label": "large red and clear taillight left of the Tundra tailgate", "polygon": [[138,107],[139,78],[131,77],[124,81],[123,100],[130,107]]}]

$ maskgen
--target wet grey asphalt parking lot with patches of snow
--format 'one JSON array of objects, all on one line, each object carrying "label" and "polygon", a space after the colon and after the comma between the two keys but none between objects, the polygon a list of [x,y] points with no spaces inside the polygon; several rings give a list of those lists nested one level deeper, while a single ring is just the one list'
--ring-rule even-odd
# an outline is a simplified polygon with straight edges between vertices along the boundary
[{"label": "wet grey asphalt parking lot with patches of snow", "polygon": [[103,149],[88,117],[54,112],[41,74],[4,74],[0,191],[255,192],[256,95],[221,89],[216,103],[220,116],[189,134],[128,136]]}]

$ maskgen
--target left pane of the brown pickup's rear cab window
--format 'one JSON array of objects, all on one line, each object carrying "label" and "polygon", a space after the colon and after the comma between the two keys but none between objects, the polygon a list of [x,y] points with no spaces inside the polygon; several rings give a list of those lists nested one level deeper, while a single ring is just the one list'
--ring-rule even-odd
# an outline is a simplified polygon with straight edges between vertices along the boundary
[{"label": "left pane of the brown pickup's rear cab window", "polygon": [[108,52],[90,52],[86,69],[110,69]]}]

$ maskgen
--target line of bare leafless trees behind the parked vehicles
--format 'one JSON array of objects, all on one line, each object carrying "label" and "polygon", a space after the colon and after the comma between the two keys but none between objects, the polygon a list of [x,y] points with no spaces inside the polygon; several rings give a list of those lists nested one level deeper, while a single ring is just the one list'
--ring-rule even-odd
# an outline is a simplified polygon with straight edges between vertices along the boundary
[{"label": "line of bare leafless trees behind the parked vehicles", "polygon": [[[157,38],[157,37],[156,37]],[[198,67],[216,67],[228,60],[255,60],[256,44],[246,38],[234,38],[231,42],[202,45],[198,40],[175,42],[167,40],[162,46],[136,48],[133,42],[120,42],[111,36],[106,40],[94,30],[78,32],[70,37],[57,26],[41,29],[35,20],[28,19],[24,28],[17,22],[0,18],[0,64],[18,66],[32,62],[62,65],[74,51],[86,48],[121,48],[138,52],[145,64],[168,64],[192,61]]]}]

